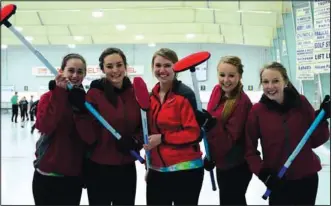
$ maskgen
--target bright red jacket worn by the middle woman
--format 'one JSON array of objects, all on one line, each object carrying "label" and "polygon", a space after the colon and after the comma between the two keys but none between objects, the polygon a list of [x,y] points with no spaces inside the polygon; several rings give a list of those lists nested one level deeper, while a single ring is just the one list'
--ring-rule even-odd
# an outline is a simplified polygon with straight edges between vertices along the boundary
[{"label": "bright red jacket worn by the middle woman", "polygon": [[175,80],[161,103],[159,90],[158,83],[150,96],[148,121],[150,133],[162,134],[164,140],[151,150],[151,165],[168,167],[201,158],[201,137],[195,116],[197,105],[194,92],[181,81]]}]

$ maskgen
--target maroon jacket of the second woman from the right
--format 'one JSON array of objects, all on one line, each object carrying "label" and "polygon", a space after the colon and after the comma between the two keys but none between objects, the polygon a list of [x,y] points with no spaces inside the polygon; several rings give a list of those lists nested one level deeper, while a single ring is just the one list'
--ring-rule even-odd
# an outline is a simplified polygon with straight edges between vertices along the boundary
[{"label": "maroon jacket of the second woman from the right", "polygon": [[216,85],[208,102],[207,111],[217,119],[217,124],[207,133],[212,159],[216,167],[229,169],[245,162],[245,124],[252,103],[242,91],[226,122],[221,119],[225,98],[220,99],[222,89]]}]

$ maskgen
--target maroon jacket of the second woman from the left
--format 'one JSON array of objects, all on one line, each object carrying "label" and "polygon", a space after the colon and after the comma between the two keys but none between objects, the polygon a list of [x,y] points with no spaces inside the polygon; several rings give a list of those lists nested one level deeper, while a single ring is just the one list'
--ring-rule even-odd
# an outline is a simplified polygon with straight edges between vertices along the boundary
[{"label": "maroon jacket of the second woman from the left", "polygon": [[[91,82],[91,87],[86,95],[86,100],[91,103],[100,115],[122,136],[122,138],[135,137],[141,141],[141,116],[140,107],[136,101],[134,89],[128,78],[124,79],[123,88],[116,89],[117,106],[110,103],[103,87],[104,79]],[[136,159],[130,153],[123,154],[118,151],[118,141],[110,131],[99,124],[97,143],[91,153],[90,159],[99,164],[124,165],[133,163]]]}]

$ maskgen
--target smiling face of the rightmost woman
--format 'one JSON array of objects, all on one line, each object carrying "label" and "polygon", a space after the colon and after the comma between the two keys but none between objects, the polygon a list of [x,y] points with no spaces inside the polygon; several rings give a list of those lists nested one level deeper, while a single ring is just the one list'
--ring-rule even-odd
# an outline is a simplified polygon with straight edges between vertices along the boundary
[{"label": "smiling face of the rightmost woman", "polygon": [[284,100],[286,82],[280,71],[269,68],[261,73],[261,83],[264,94],[271,100],[281,104]]}]

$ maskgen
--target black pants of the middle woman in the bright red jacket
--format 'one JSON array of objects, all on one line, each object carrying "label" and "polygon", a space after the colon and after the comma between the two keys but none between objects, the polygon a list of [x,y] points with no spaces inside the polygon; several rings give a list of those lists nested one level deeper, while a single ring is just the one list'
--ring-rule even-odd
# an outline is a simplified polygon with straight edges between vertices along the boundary
[{"label": "black pants of the middle woman in the bright red jacket", "polygon": [[198,205],[204,169],[158,172],[150,169],[147,176],[147,205]]}]

